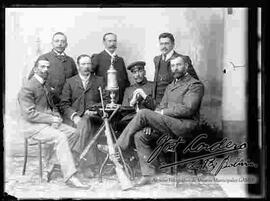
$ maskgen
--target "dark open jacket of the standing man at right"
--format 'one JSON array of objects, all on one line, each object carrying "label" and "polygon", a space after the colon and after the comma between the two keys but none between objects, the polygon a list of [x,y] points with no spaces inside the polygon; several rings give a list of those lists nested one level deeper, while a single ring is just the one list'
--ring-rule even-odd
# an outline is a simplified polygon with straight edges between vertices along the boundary
[{"label": "dark open jacket of the standing man at right", "polygon": [[[179,53],[177,53],[177,52],[174,51],[173,56],[177,56],[177,55],[181,55],[181,54],[179,54]],[[192,65],[192,62],[191,62],[189,56],[186,56],[186,57],[187,57],[187,60],[188,60],[188,63],[189,63],[187,72],[193,78],[195,78],[195,79],[198,80],[199,79],[198,78],[198,75],[197,75],[196,71],[193,68],[193,65]],[[162,59],[162,56],[161,55],[154,57],[154,64],[155,64],[155,76],[154,76],[154,85],[153,85],[153,98],[154,99],[156,99],[158,73],[159,73],[159,66],[160,66],[159,64],[160,64],[161,59]],[[171,72],[171,69],[170,69],[170,65],[169,64],[168,64],[168,72]],[[172,81],[173,80],[173,76],[170,76],[170,79]]]}]

